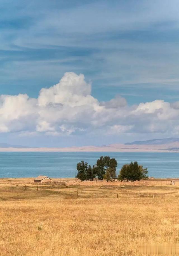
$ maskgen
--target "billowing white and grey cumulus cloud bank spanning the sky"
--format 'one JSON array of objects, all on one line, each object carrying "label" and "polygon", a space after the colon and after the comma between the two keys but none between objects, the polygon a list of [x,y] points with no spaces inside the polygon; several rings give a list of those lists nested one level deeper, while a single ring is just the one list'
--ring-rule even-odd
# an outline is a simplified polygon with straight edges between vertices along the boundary
[{"label": "billowing white and grey cumulus cloud bank spanning the sky", "polygon": [[27,94],[0,96],[0,132],[20,136],[84,134],[178,134],[179,104],[160,99],[128,106],[117,95],[99,102],[84,75],[65,73],[56,85],[42,88],[37,99]]}]

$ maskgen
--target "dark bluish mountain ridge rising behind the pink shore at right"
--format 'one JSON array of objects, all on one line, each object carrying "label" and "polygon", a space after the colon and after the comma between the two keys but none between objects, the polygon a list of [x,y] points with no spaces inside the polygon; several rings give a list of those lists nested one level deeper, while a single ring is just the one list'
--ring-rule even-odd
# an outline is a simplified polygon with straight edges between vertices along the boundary
[{"label": "dark bluish mountain ridge rising behind the pink shore at right", "polygon": [[179,142],[179,138],[153,139],[148,141],[133,141],[127,142],[124,145],[161,145],[172,142]]}]

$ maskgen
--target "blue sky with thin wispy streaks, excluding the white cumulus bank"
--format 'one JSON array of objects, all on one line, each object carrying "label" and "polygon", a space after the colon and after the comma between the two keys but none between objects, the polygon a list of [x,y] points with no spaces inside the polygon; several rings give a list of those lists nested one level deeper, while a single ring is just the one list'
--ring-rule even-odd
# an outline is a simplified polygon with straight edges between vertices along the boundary
[{"label": "blue sky with thin wispy streaks, excluding the white cumulus bank", "polygon": [[[107,102],[120,95],[126,99],[128,108],[164,100],[171,106],[175,104],[176,110],[179,89],[178,7],[176,0],[0,0],[0,95],[27,94],[37,99],[42,88],[58,83],[65,72],[73,72],[84,74],[86,83],[91,83],[90,95],[98,102]],[[4,102],[3,99],[1,105]],[[131,116],[130,111],[128,115]],[[152,121],[161,123],[156,117],[145,115],[145,118],[150,119],[149,126],[152,126]],[[136,129],[135,123],[123,120],[119,124],[118,119],[116,123],[110,120],[111,126],[103,124],[102,131],[107,133],[105,138],[100,136],[99,126],[93,125],[89,133],[84,123],[79,125],[80,122],[75,121],[73,128],[69,128],[71,121],[68,123],[64,119],[52,123],[45,121],[49,124],[48,129],[54,132],[52,136],[46,134],[48,130],[37,131],[37,119],[41,117],[34,121],[36,129],[24,124],[23,127],[16,124],[11,129],[13,118],[2,121],[0,139],[29,146],[74,146],[178,135],[178,124],[173,123],[173,119],[167,121],[169,127],[166,129],[152,126],[152,129],[143,131]],[[94,120],[91,123],[95,123]],[[61,135],[58,128],[63,125],[73,132]],[[120,131],[111,135],[106,129],[115,125],[120,125]],[[135,129],[121,128],[121,125],[135,126]],[[174,130],[171,129],[173,126]],[[86,132],[79,134],[78,129]],[[27,131],[30,138],[29,135],[21,136]]]}]

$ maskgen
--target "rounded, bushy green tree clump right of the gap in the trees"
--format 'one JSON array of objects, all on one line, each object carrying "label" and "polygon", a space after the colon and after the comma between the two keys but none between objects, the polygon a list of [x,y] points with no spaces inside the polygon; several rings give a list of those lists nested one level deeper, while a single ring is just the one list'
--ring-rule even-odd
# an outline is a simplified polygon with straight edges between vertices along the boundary
[{"label": "rounded, bushy green tree clump right of the gap in the trees", "polygon": [[131,162],[130,164],[124,164],[121,168],[118,180],[127,180],[134,182],[135,180],[147,179],[147,168],[143,168],[143,166],[139,166],[138,162]]}]

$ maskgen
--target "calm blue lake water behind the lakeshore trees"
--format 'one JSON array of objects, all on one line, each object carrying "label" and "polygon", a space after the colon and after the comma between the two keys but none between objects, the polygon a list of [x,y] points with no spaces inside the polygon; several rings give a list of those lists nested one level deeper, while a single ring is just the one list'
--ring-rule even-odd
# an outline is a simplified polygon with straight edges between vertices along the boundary
[{"label": "calm blue lake water behind the lakeshore trees", "polygon": [[36,177],[47,175],[54,178],[70,178],[77,173],[81,160],[95,164],[101,155],[109,155],[118,162],[117,172],[123,164],[138,161],[148,168],[149,176],[179,178],[179,153],[140,152],[0,152],[0,178]]}]

